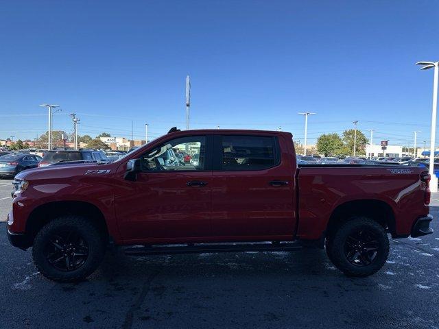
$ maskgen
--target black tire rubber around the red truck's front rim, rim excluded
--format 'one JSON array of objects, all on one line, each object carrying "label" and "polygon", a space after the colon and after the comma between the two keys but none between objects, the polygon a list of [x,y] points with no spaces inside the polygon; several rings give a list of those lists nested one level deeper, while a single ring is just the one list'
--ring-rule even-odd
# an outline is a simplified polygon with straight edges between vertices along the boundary
[{"label": "black tire rubber around the red truck's front rim, rim excluded", "polygon": [[[45,255],[45,248],[54,234],[65,231],[79,234],[88,246],[88,256],[82,266],[71,271],[57,269],[49,263]],[[104,258],[105,251],[104,234],[99,232],[90,220],[81,216],[66,215],[50,221],[36,234],[32,257],[36,268],[46,278],[57,282],[77,282],[84,280],[97,269]]]}]

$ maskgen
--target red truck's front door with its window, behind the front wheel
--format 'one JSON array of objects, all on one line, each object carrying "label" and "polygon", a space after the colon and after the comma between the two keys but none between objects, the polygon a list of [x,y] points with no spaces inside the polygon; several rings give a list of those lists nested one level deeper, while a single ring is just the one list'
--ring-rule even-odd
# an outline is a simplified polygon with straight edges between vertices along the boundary
[{"label": "red truck's front door with its window, behind the front wheel", "polygon": [[[145,151],[137,180],[124,181],[116,189],[116,215],[123,239],[184,241],[211,235],[212,172],[207,139],[174,138]],[[180,154],[198,160],[184,160]]]}]

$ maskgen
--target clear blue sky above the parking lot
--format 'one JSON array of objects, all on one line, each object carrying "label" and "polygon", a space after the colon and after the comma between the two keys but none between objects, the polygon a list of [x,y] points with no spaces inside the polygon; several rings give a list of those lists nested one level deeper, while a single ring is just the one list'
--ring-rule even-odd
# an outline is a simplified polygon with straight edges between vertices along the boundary
[{"label": "clear blue sky above the parking lot", "polygon": [[[358,127],[374,142],[429,141],[438,1],[4,1],[0,138],[54,129],[150,137],[185,126],[292,132]],[[439,141],[439,138],[438,138]],[[427,143],[428,144],[428,143]],[[413,144],[412,144],[413,145]]]}]

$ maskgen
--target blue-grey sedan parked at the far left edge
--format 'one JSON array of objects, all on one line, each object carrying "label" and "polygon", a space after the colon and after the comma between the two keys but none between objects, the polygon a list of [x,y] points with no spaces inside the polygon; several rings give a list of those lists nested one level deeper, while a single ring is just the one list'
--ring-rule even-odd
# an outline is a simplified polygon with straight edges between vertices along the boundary
[{"label": "blue-grey sedan parked at the far left edge", "polygon": [[0,178],[14,177],[17,173],[36,168],[41,157],[33,154],[5,154],[0,156]]}]

